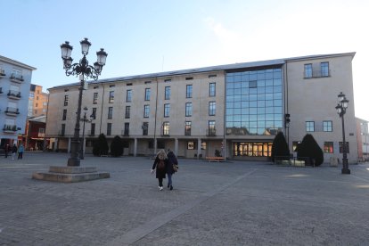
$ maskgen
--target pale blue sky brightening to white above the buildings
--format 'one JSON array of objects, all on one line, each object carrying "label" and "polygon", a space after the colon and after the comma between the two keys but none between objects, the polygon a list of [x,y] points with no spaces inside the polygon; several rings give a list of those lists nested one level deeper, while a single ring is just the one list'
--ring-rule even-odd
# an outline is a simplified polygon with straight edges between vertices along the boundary
[{"label": "pale blue sky brightening to white above the buildings", "polygon": [[0,55],[37,68],[45,92],[78,82],[60,45],[79,61],[85,37],[91,65],[108,53],[99,78],[355,52],[355,114],[369,120],[366,0],[0,0],[0,23]]}]

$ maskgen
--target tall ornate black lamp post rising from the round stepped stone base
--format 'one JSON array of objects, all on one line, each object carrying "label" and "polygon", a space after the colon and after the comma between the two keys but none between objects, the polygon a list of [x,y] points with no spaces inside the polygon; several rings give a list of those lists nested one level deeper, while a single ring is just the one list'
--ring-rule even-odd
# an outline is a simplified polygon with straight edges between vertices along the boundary
[{"label": "tall ornate black lamp post rising from the round stepped stone base", "polygon": [[65,74],[67,76],[79,76],[80,86],[79,86],[79,95],[78,95],[78,110],[77,110],[77,119],[76,126],[74,127],[74,135],[71,141],[71,152],[70,159],[68,159],[68,166],[70,167],[78,167],[80,164],[79,157],[79,121],[81,119],[81,104],[82,104],[82,93],[85,86],[85,78],[94,78],[97,80],[99,75],[102,72],[102,67],[105,65],[106,57],[108,53],[104,52],[103,49],[96,52],[97,61],[94,62],[94,67],[88,65],[88,61],[86,59],[86,55],[88,54],[88,49],[91,46],[91,43],[87,38],[79,42],[81,45],[81,50],[83,54],[83,58],[79,60],[78,63],[73,63],[73,59],[70,57],[71,51],[73,47],[70,45],[70,42],[66,41],[61,45],[61,59],[64,64]]}]

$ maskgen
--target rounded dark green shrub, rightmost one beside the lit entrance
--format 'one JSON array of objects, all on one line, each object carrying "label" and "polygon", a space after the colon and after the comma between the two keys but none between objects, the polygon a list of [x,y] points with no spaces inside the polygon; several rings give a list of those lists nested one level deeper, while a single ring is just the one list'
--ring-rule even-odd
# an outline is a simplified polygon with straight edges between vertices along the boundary
[{"label": "rounded dark green shrub, rightmost one beside the lit entrance", "polygon": [[320,166],[324,161],[324,153],[313,135],[307,134],[297,148],[298,160],[305,160],[307,166]]}]

